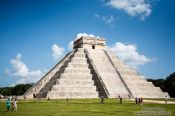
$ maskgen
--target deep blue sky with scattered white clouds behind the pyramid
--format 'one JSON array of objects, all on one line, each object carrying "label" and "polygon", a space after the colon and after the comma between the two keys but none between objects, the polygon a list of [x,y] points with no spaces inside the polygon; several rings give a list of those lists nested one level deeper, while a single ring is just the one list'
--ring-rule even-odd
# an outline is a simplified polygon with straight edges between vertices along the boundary
[{"label": "deep blue sky with scattered white clouds behind the pyramid", "polygon": [[175,71],[174,11],[174,0],[0,0],[0,86],[36,82],[79,33],[105,38],[141,75],[165,78]]}]

